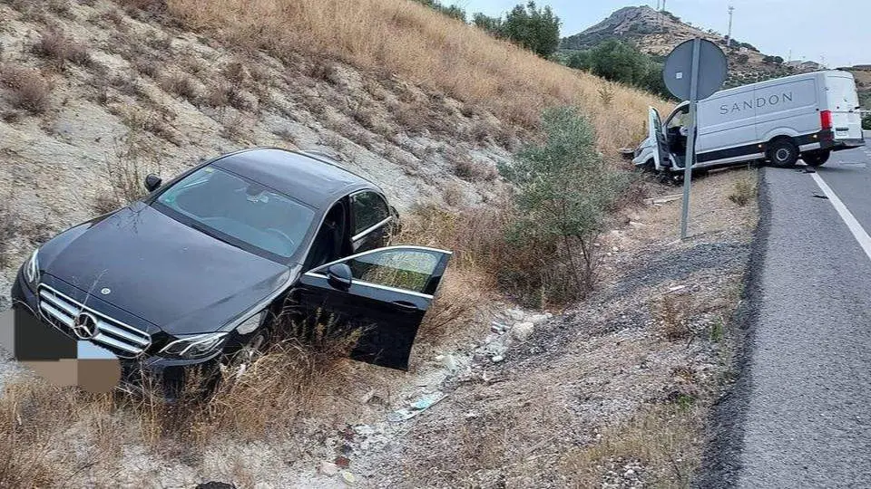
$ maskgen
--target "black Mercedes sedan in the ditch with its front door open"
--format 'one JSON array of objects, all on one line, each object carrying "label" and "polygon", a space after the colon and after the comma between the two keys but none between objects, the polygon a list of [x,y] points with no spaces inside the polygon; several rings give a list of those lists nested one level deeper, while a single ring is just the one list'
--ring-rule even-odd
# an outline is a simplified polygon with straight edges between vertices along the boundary
[{"label": "black Mercedes sedan in the ditch with its front door open", "polygon": [[167,379],[263,340],[287,303],[362,331],[352,358],[407,369],[451,253],[385,246],[398,216],[372,182],[259,148],[145,187],[35,250],[14,307]]}]

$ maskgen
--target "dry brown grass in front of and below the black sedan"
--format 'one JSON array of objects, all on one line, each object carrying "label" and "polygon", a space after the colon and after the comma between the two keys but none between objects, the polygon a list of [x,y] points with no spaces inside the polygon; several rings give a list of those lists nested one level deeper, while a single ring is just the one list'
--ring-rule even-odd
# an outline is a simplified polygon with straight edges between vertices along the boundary
[{"label": "dry brown grass in front of and below the black sedan", "polygon": [[194,373],[172,404],[148,378],[138,394],[103,395],[57,388],[27,374],[7,380],[0,395],[0,487],[113,481],[122,471],[124,446],[196,459],[215,441],[283,443],[305,436],[311,427],[300,425],[302,418],[312,412],[326,417],[341,404],[350,382],[347,351],[358,333],[319,324],[295,332],[296,339],[246,357],[244,366],[230,363],[208,396],[206,379]]}]

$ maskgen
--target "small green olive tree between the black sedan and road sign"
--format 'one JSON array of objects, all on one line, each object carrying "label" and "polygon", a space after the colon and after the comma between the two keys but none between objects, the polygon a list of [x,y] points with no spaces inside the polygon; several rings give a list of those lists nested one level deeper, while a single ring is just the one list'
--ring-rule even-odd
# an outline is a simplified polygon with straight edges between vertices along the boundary
[{"label": "small green olive tree between the black sedan and road sign", "polygon": [[545,110],[543,129],[542,143],[499,168],[514,184],[519,211],[510,234],[553,250],[547,263],[565,265],[566,279],[583,294],[592,289],[596,239],[625,176],[602,158],[592,123],[577,110]]}]

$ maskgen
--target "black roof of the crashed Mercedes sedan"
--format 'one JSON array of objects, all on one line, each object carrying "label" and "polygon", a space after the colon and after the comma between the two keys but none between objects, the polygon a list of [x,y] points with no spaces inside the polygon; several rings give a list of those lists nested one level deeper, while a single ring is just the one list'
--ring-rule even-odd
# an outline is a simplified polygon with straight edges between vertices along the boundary
[{"label": "black roof of the crashed Mercedes sedan", "polygon": [[339,197],[363,189],[381,189],[326,155],[312,155],[280,148],[243,149],[211,162],[298,199],[308,206],[327,210]]}]

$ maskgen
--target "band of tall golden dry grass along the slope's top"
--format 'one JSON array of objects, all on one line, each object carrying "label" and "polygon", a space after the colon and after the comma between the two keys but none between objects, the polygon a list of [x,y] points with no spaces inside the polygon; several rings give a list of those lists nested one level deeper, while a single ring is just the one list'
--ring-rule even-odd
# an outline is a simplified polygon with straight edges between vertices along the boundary
[{"label": "band of tall golden dry grass along the slope's top", "polygon": [[[154,11],[152,3],[144,2]],[[263,49],[287,62],[298,53],[316,54],[324,61],[311,72],[328,82],[337,82],[328,61],[334,58],[371,72],[396,73],[526,128],[537,126],[546,106],[577,104],[601,129],[599,144],[608,153],[636,142],[647,106],[662,103],[614,86],[605,107],[597,96],[601,82],[592,75],[547,62],[416,2],[167,0],[165,5],[173,21],[226,43]]]}]

